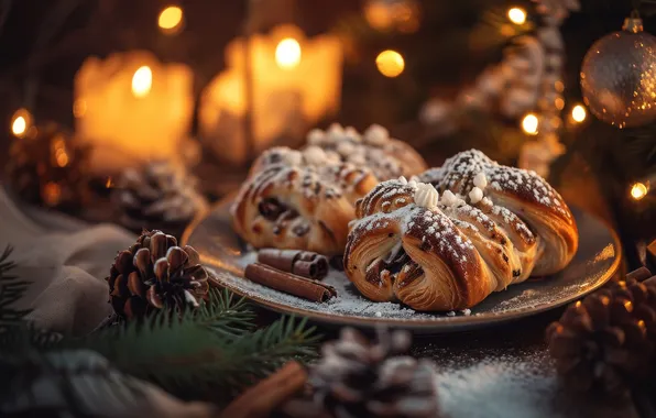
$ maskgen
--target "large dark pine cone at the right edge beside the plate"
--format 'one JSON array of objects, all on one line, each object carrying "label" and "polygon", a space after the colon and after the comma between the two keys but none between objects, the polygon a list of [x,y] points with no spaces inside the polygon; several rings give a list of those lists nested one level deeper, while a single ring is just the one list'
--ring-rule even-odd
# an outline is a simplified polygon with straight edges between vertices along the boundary
[{"label": "large dark pine cone at the right edge beside the plate", "polygon": [[652,371],[656,342],[656,283],[612,283],[569,306],[547,329],[558,372],[573,388],[612,395]]}]

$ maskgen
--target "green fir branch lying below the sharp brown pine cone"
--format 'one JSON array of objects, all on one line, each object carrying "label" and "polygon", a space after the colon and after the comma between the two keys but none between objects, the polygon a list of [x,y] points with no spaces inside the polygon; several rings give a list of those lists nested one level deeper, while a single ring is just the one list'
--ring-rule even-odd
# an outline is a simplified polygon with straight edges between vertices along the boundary
[{"label": "green fir branch lying below the sharp brown pine cone", "polygon": [[236,394],[289,359],[314,355],[314,329],[281,319],[252,330],[253,314],[243,299],[214,292],[197,311],[171,317],[165,310],[142,322],[99,330],[59,348],[85,348],[105,355],[124,373],[187,398]]}]

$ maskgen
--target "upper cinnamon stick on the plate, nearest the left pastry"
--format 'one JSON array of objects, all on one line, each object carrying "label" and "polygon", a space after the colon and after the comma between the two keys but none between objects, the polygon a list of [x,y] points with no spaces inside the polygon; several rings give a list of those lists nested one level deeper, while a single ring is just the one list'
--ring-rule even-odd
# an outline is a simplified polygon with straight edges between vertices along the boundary
[{"label": "upper cinnamon stick on the plate, nearest the left pastry", "polygon": [[328,274],[328,258],[310,251],[264,249],[258,262],[307,278],[321,279]]}]

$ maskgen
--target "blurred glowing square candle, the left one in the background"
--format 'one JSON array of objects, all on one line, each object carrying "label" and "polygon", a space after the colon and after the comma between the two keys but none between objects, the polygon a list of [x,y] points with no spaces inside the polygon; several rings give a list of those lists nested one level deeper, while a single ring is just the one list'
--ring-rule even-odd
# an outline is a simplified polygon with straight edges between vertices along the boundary
[{"label": "blurred glowing square candle, the left one in the background", "polygon": [[193,114],[193,74],[151,53],[90,57],[75,76],[77,135],[94,145],[92,167],[116,172],[145,160],[179,158]]}]

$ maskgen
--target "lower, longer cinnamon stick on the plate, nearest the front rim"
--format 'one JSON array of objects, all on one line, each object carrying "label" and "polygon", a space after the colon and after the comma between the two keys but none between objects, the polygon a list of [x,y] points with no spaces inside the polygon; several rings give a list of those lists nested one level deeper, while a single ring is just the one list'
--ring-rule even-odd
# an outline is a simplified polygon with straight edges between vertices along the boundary
[{"label": "lower, longer cinnamon stick on the plate, nearest the front rim", "polygon": [[311,301],[326,301],[337,296],[335,288],[321,282],[281,272],[262,263],[249,264],[243,275],[249,280]]}]

